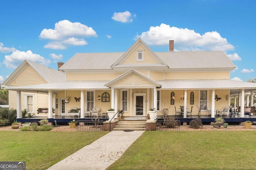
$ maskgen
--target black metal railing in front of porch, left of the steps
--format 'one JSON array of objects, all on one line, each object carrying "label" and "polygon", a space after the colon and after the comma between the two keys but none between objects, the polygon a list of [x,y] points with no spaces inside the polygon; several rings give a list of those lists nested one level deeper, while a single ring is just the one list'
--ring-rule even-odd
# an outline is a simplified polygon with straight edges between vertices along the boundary
[{"label": "black metal railing in front of porch, left of the steps", "polygon": [[78,120],[76,121],[76,131],[103,131],[103,121],[99,119],[95,120]]}]

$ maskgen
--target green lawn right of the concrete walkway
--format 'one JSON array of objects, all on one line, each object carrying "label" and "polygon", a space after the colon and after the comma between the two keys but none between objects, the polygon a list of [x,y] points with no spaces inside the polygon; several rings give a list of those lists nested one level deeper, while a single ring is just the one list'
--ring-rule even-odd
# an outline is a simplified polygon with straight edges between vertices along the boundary
[{"label": "green lawn right of the concrete walkway", "polygon": [[108,170],[256,169],[256,131],[146,131]]}]

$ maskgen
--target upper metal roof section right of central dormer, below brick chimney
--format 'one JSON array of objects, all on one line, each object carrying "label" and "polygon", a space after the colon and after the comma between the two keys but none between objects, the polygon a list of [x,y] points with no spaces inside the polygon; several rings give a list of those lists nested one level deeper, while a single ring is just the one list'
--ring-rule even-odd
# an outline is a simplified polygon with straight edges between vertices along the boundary
[{"label": "upper metal roof section right of central dormer, below brick chimney", "polygon": [[169,68],[235,68],[223,51],[156,52]]}]

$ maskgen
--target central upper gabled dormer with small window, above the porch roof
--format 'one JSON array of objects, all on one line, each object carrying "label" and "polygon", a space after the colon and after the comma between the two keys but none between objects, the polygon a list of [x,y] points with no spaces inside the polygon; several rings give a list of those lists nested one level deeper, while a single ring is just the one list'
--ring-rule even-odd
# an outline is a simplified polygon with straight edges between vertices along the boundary
[{"label": "central upper gabled dormer with small window, above the porch roof", "polygon": [[167,65],[140,38],[123,53],[111,68],[167,67]]}]

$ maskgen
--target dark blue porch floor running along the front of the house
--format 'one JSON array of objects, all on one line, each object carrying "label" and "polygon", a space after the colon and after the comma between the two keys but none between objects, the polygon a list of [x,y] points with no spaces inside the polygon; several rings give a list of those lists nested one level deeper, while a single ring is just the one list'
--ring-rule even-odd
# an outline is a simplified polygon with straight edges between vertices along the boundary
[{"label": "dark blue porch floor running along the front of the house", "polygon": [[[129,116],[129,117],[132,117],[132,116]],[[180,120],[180,122],[182,122],[182,123],[183,122],[189,123],[192,119],[201,119],[203,123],[204,122],[205,123],[207,123],[207,122],[210,123],[210,122],[214,122],[214,120],[215,120],[215,118],[211,118],[210,115],[208,115],[208,116],[207,115],[201,115],[201,116],[198,116],[198,115],[190,116],[189,115],[189,116],[187,116],[187,118],[183,118],[183,117],[178,116],[178,115],[176,115],[176,116],[170,115],[168,117],[172,117],[174,119]],[[129,120],[126,120],[124,118],[126,118],[126,117],[122,116],[121,120],[129,121]],[[157,118],[159,120],[163,120],[162,115],[157,116]],[[256,122],[256,115],[255,114],[253,116],[245,114],[244,118],[241,118],[240,114],[239,115],[237,115],[237,114],[236,115],[222,115],[222,118],[224,118],[225,122],[227,122],[227,123],[230,123],[230,122],[240,123],[240,122],[244,122],[246,120]],[[20,121],[20,122],[24,123],[24,122],[40,121],[42,119],[48,119],[48,116],[20,118],[20,119],[17,119],[17,121]],[[75,119],[75,120],[92,120],[89,117],[85,117],[84,119],[81,119],[78,116],[74,116],[74,117],[72,117],[72,116],[53,116],[53,118],[48,119],[48,121],[51,122],[51,123],[55,123],[55,121],[56,121],[56,123],[68,123],[73,119]],[[102,116],[102,117],[99,116],[99,119],[102,120],[102,121],[107,121],[108,120],[108,118],[105,118],[104,116]]]}]

